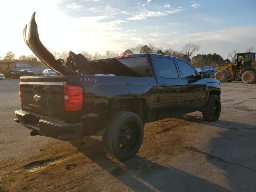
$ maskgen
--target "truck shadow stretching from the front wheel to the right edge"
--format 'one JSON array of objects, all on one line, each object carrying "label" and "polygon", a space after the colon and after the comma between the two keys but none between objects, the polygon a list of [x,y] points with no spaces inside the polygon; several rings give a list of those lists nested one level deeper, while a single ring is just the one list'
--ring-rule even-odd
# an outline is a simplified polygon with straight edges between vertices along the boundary
[{"label": "truck shadow stretching from the front wheel to the right edge", "polygon": [[255,192],[256,189],[256,125],[218,120],[206,122],[203,118],[183,115],[177,119],[220,128],[207,152],[191,147],[189,150],[204,154],[210,163],[224,170],[234,191]]}]

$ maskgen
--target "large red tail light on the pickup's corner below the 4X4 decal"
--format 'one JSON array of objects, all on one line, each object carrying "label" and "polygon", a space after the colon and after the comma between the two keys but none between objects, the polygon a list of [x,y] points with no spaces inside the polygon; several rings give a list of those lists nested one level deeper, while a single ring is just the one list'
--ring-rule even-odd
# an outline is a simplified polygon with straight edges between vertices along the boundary
[{"label": "large red tail light on the pickup's corner below the 4X4 decal", "polygon": [[77,111],[82,109],[83,91],[82,87],[64,85],[64,106],[65,111]]}]

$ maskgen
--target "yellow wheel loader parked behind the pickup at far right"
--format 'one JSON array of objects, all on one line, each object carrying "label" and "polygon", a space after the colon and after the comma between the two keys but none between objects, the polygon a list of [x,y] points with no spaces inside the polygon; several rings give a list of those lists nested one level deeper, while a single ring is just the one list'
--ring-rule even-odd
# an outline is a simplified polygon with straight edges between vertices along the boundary
[{"label": "yellow wheel loader parked behind the pickup at far right", "polygon": [[215,78],[220,82],[242,80],[243,83],[256,83],[255,53],[246,52],[236,54],[236,64],[226,64],[223,67],[216,65],[218,72]]}]

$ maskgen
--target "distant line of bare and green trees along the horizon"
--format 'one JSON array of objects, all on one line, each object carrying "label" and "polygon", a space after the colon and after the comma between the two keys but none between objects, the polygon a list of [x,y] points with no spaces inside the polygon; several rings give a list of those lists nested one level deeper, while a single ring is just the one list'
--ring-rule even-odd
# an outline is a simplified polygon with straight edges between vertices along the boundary
[{"label": "distant line of bare and green trees along the horizon", "polygon": [[[48,48],[50,51],[50,49]],[[104,58],[112,58],[116,57],[120,54],[138,54],[138,53],[155,53],[155,54],[162,54],[162,55],[168,55],[168,56],[174,56],[179,58],[184,58],[188,62],[190,62],[194,67],[202,67],[202,66],[216,66],[216,64],[229,64],[229,63],[235,63],[236,62],[236,54],[238,53],[238,49],[232,50],[228,54],[228,58],[224,60],[222,56],[219,54],[197,54],[196,52],[200,50],[200,46],[193,43],[185,44],[181,51],[174,50],[172,48],[168,48],[166,50],[163,50],[161,47],[156,47],[153,44],[148,45],[138,45],[129,49],[126,49],[124,52],[117,53],[114,51],[106,51],[105,54],[99,54],[98,52],[94,54],[90,54],[87,51],[82,51],[81,54],[84,55],[88,60],[98,60],[98,59],[104,59]],[[253,52],[254,47],[249,47],[246,49],[246,52]],[[194,56],[195,55],[195,56]],[[62,58],[66,60],[66,58],[69,56],[69,52],[53,52],[53,56],[58,59]],[[0,57],[1,60],[1,57]],[[3,60],[12,60],[16,63],[25,63],[30,64],[31,66],[44,66],[44,64],[38,60],[34,55],[21,55],[18,59],[15,59],[15,54],[12,51],[8,51],[6,53],[6,56],[3,58]]]}]

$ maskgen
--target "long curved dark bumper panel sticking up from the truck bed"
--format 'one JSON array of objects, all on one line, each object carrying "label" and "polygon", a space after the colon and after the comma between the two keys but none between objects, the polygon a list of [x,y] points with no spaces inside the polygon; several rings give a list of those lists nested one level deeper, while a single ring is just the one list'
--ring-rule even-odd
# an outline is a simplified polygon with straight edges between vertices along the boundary
[{"label": "long curved dark bumper panel sticking up from the truck bed", "polygon": [[38,31],[37,31],[35,14],[36,12],[33,13],[29,24],[26,25],[24,28],[23,36],[27,46],[42,62],[44,62],[44,64],[46,64],[49,68],[51,68],[57,74],[60,74],[60,75],[76,74],[74,71],[68,70],[67,68],[62,66],[64,60],[62,59],[56,60],[54,56],[41,43],[39,39]]}]

